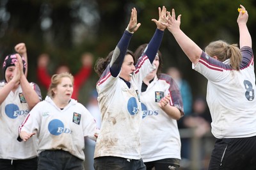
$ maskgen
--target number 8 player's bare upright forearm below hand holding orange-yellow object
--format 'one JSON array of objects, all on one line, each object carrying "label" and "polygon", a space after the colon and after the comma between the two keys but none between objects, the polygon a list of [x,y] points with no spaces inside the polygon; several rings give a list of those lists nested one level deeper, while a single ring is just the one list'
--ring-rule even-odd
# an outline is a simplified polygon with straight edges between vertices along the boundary
[{"label": "number 8 player's bare upright forearm below hand holding orange-yellow object", "polygon": [[244,47],[244,46],[248,46],[252,48],[252,37],[249,33],[248,27],[246,26],[246,24],[238,24],[239,26],[239,44],[240,44],[240,48]]}]

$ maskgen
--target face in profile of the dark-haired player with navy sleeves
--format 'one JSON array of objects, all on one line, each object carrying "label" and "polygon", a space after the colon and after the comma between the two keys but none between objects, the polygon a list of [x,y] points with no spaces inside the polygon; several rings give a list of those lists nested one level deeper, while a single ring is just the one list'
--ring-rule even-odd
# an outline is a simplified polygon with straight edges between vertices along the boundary
[{"label": "face in profile of the dark-haired player with navy sleeves", "polygon": [[124,62],[121,67],[120,77],[125,79],[125,81],[131,81],[132,74],[135,71],[134,60],[131,54],[126,54]]}]

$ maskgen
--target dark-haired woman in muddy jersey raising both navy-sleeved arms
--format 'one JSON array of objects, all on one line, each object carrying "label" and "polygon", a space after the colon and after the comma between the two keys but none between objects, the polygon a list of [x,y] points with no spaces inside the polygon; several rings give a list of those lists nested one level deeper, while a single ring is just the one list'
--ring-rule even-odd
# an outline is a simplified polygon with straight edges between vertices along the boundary
[{"label": "dark-haired woman in muddy jersey raising both navy-sleeved arms", "polygon": [[147,55],[141,56],[134,65],[134,55],[127,50],[132,34],[140,27],[137,12],[132,8],[131,19],[114,51],[100,58],[95,72],[102,124],[95,146],[94,167],[96,170],[145,169],[140,155],[140,125],[142,119],[140,91],[143,78],[154,70],[152,62],[163,38],[161,22],[166,8],[159,8],[159,20],[152,19],[157,29],[148,44]]}]

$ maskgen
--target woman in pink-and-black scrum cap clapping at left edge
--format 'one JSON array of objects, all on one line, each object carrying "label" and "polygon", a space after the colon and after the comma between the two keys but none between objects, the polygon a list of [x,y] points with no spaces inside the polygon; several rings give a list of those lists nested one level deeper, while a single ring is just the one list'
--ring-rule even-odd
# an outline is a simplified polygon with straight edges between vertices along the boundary
[{"label": "woman in pink-and-black scrum cap clapping at left edge", "polygon": [[17,141],[19,125],[41,100],[37,84],[26,78],[26,61],[19,54],[6,56],[0,82],[0,169],[37,168],[36,139]]}]

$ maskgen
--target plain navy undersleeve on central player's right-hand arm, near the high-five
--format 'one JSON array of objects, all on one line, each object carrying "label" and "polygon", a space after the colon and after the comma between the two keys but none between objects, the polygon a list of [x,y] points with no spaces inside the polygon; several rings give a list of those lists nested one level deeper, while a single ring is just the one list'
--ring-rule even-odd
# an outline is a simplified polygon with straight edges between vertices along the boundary
[{"label": "plain navy undersleeve on central player's right-hand arm, near the high-five", "polygon": [[160,29],[156,29],[154,36],[151,38],[150,42],[148,43],[148,47],[145,50],[145,54],[148,56],[150,63],[152,63],[156,58],[157,50],[161,45],[163,36],[164,36],[164,31],[161,31]]}]

